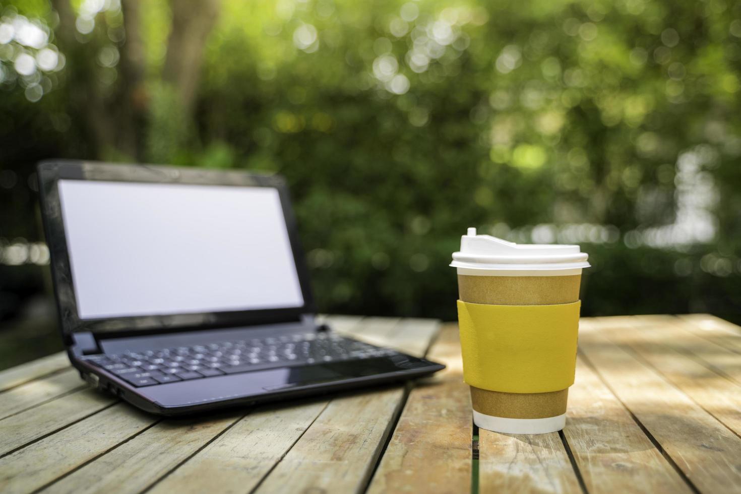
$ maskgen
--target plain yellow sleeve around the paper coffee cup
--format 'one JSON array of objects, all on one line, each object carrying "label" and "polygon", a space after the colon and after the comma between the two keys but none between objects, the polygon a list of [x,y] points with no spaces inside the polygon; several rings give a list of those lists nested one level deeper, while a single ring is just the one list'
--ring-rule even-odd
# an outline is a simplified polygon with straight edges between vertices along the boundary
[{"label": "plain yellow sleeve around the paper coffee cup", "polygon": [[458,301],[463,379],[482,390],[548,393],[574,384],[581,301],[489,305]]}]

